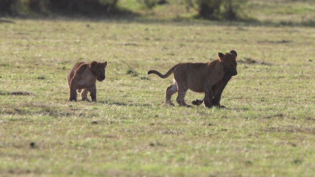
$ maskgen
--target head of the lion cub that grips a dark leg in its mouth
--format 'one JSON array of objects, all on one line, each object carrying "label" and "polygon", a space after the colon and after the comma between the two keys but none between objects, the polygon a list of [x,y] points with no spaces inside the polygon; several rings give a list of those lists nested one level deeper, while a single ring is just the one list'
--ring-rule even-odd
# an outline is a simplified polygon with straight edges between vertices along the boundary
[{"label": "head of the lion cub that grips a dark leg in its mouth", "polygon": [[228,71],[228,72],[231,72],[232,76],[236,76],[237,75],[236,51],[231,50],[230,53],[225,53],[225,54],[218,52],[218,57],[219,57],[220,63],[223,65],[224,72]]}]

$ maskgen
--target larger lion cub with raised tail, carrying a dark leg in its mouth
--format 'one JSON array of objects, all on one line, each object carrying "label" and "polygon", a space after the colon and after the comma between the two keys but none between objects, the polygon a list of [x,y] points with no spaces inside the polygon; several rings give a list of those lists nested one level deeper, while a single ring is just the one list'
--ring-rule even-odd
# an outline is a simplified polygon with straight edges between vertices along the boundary
[{"label": "larger lion cub with raised tail, carrying a dark leg in its mouth", "polygon": [[[173,84],[166,89],[165,104],[174,105],[171,102],[171,97],[178,91],[177,103],[180,106],[191,107],[185,102],[186,92],[190,89],[194,92],[205,93],[204,99],[197,101],[202,101],[206,107],[221,107],[221,93],[229,79],[237,75],[236,57],[237,53],[235,50],[225,54],[219,52],[218,59],[211,62],[179,63],[174,65],[164,75],[156,70],[150,70],[148,74],[153,73],[165,79],[174,73]],[[215,101],[213,102],[214,97]]]}]

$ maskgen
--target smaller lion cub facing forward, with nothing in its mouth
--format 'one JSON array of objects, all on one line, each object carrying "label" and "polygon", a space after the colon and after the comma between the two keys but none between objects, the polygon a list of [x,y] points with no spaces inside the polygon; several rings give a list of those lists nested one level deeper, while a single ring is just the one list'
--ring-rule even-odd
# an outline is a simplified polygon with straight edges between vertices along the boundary
[{"label": "smaller lion cub facing forward, with nothing in its mouth", "polygon": [[[105,79],[105,67],[107,61],[91,63],[78,62],[76,63],[68,74],[67,81],[70,90],[70,97],[68,101],[77,100],[77,90],[81,92],[82,100],[88,100],[88,91],[92,101],[96,101],[96,80],[101,82]],[[83,89],[83,90],[82,90]]]}]

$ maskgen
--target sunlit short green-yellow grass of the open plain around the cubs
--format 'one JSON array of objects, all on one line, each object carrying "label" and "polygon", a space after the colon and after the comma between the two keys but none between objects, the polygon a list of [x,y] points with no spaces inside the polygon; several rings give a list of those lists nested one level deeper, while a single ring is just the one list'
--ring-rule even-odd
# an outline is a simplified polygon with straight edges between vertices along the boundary
[{"label": "sunlit short green-yellow grass of the open plain around the cubs", "polygon": [[[0,175],[314,175],[314,7],[250,1],[253,25],[2,18]],[[231,49],[228,109],[164,105],[172,77],[146,74]],[[93,60],[108,61],[97,102],[66,101],[68,72]],[[186,100],[202,97],[188,91]]]}]

